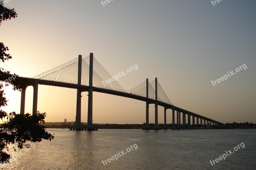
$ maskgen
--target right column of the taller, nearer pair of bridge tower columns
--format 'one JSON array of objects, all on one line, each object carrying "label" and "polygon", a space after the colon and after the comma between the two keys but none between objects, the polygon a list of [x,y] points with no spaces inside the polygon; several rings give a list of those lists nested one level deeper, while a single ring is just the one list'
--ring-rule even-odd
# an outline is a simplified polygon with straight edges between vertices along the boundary
[{"label": "right column of the taller, nearer pair of bridge tower columns", "polygon": [[92,72],[93,72],[93,53],[90,53],[90,73],[89,73],[89,91],[88,91],[88,118],[87,125],[92,125]]}]

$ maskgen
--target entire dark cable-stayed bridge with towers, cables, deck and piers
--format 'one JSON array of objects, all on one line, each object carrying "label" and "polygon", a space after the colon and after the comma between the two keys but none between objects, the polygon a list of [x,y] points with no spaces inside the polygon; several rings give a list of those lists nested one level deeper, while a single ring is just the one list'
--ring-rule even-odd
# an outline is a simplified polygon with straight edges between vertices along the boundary
[{"label": "entire dark cable-stayed bridge with towers, cables, deck and piers", "polygon": [[[163,129],[158,126],[158,106],[164,107],[164,129],[180,129],[181,128],[181,113],[182,113],[182,128],[191,128],[192,125],[206,126],[211,125],[224,125],[221,122],[212,120],[210,118],[198,115],[183,108],[174,106],[157,78],[152,82],[148,78],[137,85],[130,91],[125,91],[124,88],[112,79],[111,83],[107,85],[103,83],[106,80],[113,78],[107,70],[93,57],[93,53],[89,56],[71,60],[51,70],[43,72],[33,78],[19,77],[26,80],[28,85],[21,89],[21,104],[20,114],[25,114],[25,96],[26,88],[33,86],[33,115],[37,113],[37,98],[38,98],[38,85],[50,85],[58,87],[66,87],[77,89],[76,98],[76,122],[69,128],[71,130],[97,130],[97,127],[92,123],[92,94],[93,92],[102,92],[131,99],[141,100],[146,102],[146,126],[143,129]],[[87,125],[81,124],[81,93],[88,92],[88,113]],[[149,127],[149,104],[155,104],[155,127]],[[172,127],[166,127],[166,110],[172,110]],[[176,114],[175,114],[176,112]],[[175,124],[175,115],[177,123]],[[196,118],[196,124],[195,124]],[[200,119],[200,122],[199,122]],[[188,121],[187,121],[188,120]],[[187,123],[187,127],[186,127]]]}]

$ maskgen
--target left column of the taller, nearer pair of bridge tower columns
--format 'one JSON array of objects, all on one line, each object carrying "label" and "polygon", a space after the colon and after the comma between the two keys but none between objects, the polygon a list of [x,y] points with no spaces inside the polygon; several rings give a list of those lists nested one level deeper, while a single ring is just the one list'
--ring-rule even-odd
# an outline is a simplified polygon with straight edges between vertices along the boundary
[{"label": "left column of the taller, nearer pair of bridge tower columns", "polygon": [[[81,85],[81,77],[82,77],[82,55],[78,55],[78,77],[77,84]],[[81,90],[77,89],[76,94],[76,125],[81,124]]]}]

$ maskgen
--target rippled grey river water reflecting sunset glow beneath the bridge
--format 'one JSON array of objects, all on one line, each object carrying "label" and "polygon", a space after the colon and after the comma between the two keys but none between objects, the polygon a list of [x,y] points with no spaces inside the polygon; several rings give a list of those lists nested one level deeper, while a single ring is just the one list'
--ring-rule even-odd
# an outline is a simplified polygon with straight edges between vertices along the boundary
[{"label": "rippled grey river water reflecting sunset glow beneath the bridge", "polygon": [[54,140],[23,148],[0,169],[256,169],[256,129],[47,131]]}]

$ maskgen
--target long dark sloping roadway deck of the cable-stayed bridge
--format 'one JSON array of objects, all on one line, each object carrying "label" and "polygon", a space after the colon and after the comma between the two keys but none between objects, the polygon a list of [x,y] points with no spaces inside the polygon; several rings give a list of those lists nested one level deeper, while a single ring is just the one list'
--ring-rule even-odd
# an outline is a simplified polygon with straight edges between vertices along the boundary
[{"label": "long dark sloping roadway deck of the cable-stayed bridge", "polygon": [[[35,82],[38,82],[38,84],[40,84],[40,85],[50,85],[50,86],[66,87],[66,88],[72,88],[72,89],[80,89],[82,92],[88,92],[89,88],[90,88],[89,86],[86,86],[86,85],[77,85],[77,84],[57,82],[57,81],[52,81],[52,80],[41,80],[41,79],[24,78],[24,77],[18,77],[18,78],[21,80],[29,80],[29,82],[30,82],[29,85],[33,85]],[[92,88],[93,88],[94,92],[107,93],[107,94],[127,97],[127,98],[131,98],[131,99],[135,99],[135,100],[145,101],[145,102],[148,101],[149,104],[155,104],[155,102],[156,102],[156,100],[154,100],[154,99],[142,97],[142,96],[127,93],[127,92],[119,92],[119,91],[115,91],[115,90],[103,89],[103,88],[98,88],[98,87],[92,87]],[[221,122],[198,115],[196,113],[190,112],[190,111],[182,109],[180,107],[176,107],[176,106],[173,106],[173,105],[161,102],[161,101],[157,101],[157,102],[158,102],[159,106],[165,107],[166,109],[179,110],[179,112],[186,113],[186,114],[189,114],[190,116],[192,115],[192,116],[200,118],[200,119],[204,119],[204,121],[207,120],[209,122],[213,122],[213,123],[216,123],[219,125],[224,125]]]}]

